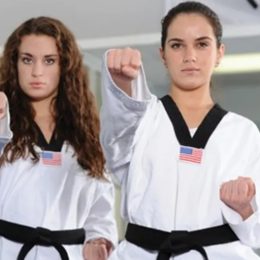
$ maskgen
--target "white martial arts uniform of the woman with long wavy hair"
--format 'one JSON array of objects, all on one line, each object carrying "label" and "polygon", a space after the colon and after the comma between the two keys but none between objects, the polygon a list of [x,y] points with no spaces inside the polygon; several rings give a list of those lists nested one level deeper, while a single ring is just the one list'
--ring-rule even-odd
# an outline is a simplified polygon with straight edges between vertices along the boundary
[{"label": "white martial arts uniform of the woman with long wavy hair", "polygon": [[[67,142],[62,145],[61,165],[19,159],[0,169],[0,219],[51,230],[84,228],[86,241],[102,237],[116,243],[113,195],[110,181],[86,175]],[[0,259],[15,260],[21,246],[0,236]],[[83,245],[64,248],[70,260],[83,259]],[[61,258],[55,248],[43,246],[33,247],[26,257],[46,259]]]}]

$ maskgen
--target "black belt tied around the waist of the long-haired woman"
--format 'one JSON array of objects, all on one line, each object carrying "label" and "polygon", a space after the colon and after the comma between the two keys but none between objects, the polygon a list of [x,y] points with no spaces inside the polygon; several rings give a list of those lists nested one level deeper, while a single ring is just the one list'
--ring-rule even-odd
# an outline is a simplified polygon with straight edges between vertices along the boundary
[{"label": "black belt tied around the waist of the long-haired woman", "polygon": [[85,230],[81,228],[51,231],[46,228],[32,228],[0,220],[0,236],[23,244],[17,260],[23,260],[36,245],[55,247],[62,260],[69,260],[68,253],[62,245],[83,244],[85,240]]}]

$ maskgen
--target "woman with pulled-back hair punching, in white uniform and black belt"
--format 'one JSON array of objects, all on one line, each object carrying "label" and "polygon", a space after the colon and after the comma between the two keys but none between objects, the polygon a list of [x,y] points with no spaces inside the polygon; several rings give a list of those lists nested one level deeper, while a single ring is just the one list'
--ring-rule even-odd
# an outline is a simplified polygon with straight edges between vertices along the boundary
[{"label": "woman with pulled-back hair punching, in white uniform and black belt", "polygon": [[138,50],[104,57],[101,143],[129,223],[110,259],[259,259],[260,134],[211,96],[224,55],[216,13],[198,2],[173,7],[160,54],[170,78],[160,99]]}]

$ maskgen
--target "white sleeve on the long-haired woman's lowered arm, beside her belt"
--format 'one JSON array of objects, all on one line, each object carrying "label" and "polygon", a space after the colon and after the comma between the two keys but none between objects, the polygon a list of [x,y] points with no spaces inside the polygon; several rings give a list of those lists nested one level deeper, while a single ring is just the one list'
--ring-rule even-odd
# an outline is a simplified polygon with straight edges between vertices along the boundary
[{"label": "white sleeve on the long-haired woman's lowered arm, beside her belt", "polygon": [[114,186],[111,181],[100,181],[93,197],[95,200],[84,225],[85,241],[105,238],[116,247],[118,234],[114,217]]}]

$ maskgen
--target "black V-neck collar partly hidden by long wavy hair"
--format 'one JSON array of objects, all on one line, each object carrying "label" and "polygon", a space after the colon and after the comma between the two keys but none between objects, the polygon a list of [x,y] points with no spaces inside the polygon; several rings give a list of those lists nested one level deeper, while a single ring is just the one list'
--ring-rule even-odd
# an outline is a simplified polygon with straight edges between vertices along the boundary
[{"label": "black V-neck collar partly hidden by long wavy hair", "polygon": [[41,149],[45,151],[53,151],[53,152],[60,152],[64,140],[56,136],[56,131],[54,130],[52,133],[52,137],[50,142],[48,143],[40,129],[40,127],[34,122],[34,127],[37,131],[38,140],[37,145],[41,147]]}]

